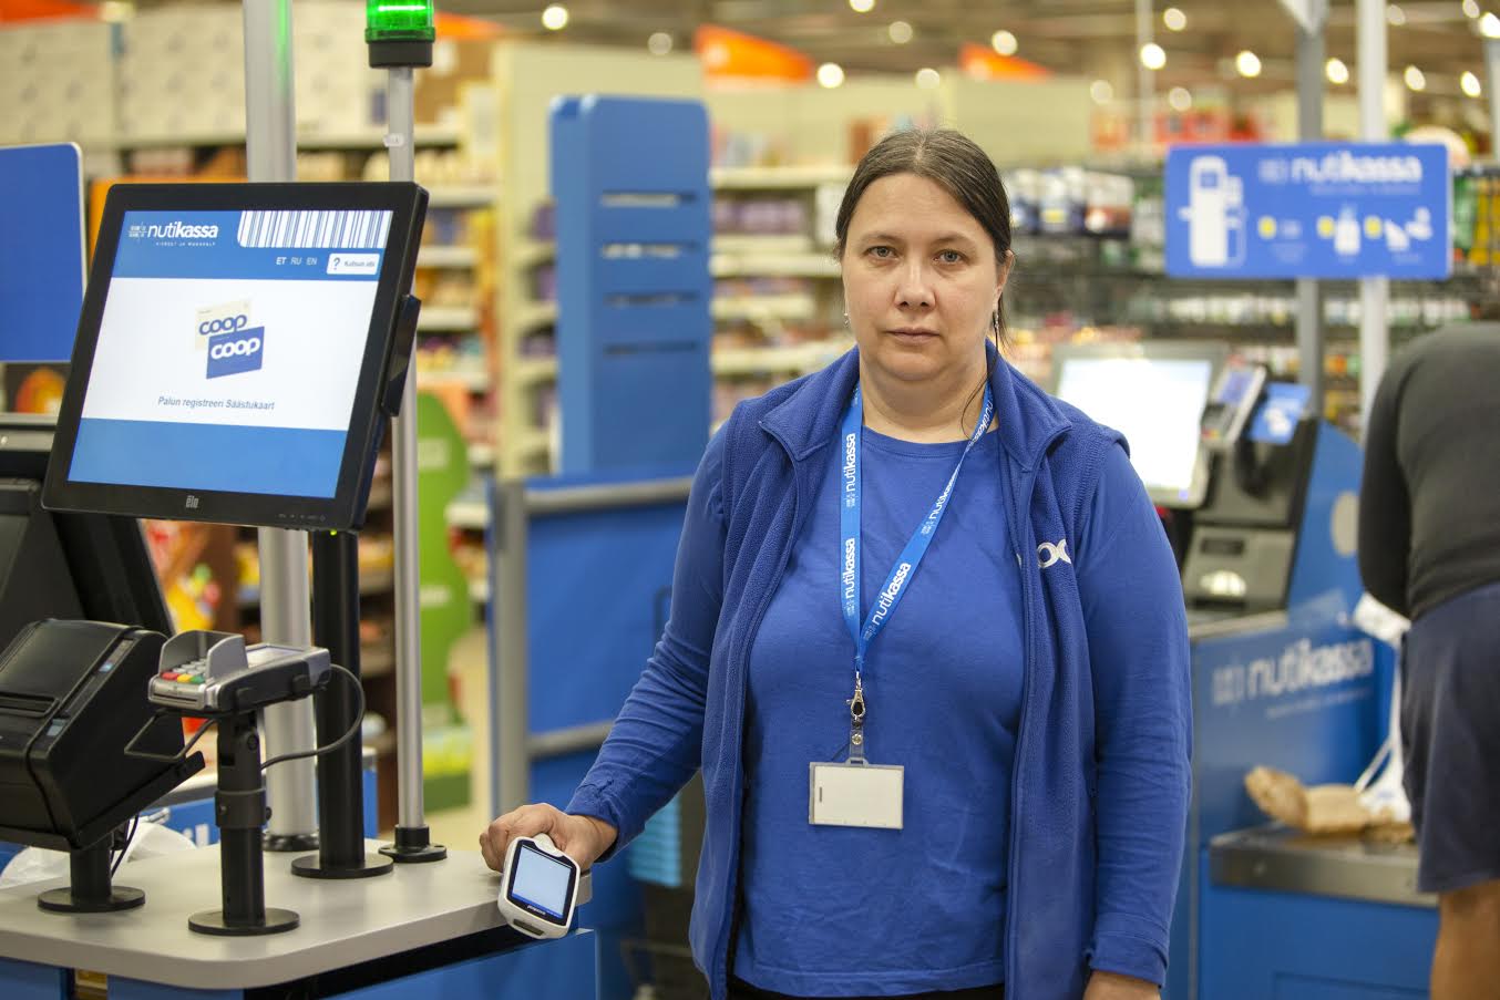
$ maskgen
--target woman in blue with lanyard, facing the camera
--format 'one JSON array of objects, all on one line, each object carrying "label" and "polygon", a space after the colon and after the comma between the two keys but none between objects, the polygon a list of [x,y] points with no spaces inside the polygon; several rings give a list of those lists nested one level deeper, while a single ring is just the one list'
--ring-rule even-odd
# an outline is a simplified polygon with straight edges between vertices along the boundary
[{"label": "woman in blue with lanyard, facing the camera", "polygon": [[538,831],[606,858],[700,766],[712,1000],[1155,997],[1190,742],[1155,510],[1119,435],[999,357],[982,150],[885,138],[836,232],[856,348],[710,442],[598,760],[484,858]]}]

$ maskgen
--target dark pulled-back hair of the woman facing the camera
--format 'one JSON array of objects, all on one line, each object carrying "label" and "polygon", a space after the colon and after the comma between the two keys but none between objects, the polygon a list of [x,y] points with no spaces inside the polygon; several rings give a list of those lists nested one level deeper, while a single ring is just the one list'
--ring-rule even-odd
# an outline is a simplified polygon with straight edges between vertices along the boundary
[{"label": "dark pulled-back hair of the woman facing the camera", "polygon": [[[1005,262],[1011,249],[1011,202],[1000,174],[974,139],[952,129],[903,129],[876,142],[860,160],[838,204],[834,222],[834,253],[843,258],[849,219],[866,189],[882,177],[926,177],[974,216],[994,244],[994,259]],[[994,318],[996,346],[1005,342],[1005,300]]]}]

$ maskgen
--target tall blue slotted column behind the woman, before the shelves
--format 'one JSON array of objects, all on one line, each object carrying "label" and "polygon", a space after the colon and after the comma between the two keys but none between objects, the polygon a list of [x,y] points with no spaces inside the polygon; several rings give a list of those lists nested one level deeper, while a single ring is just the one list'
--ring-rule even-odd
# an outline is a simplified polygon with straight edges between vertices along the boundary
[{"label": "tall blue slotted column behind the woman, before the shelves", "polygon": [[561,472],[692,471],[712,390],[708,114],[560,97],[550,142]]}]

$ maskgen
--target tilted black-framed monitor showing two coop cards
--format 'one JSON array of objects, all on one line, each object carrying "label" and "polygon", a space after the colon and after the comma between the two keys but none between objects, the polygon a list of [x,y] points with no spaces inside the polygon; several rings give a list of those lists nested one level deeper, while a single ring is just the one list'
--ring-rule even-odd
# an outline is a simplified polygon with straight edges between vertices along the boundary
[{"label": "tilted black-framed monitor showing two coop cards", "polygon": [[48,502],[356,526],[424,202],[414,184],[111,189]]}]

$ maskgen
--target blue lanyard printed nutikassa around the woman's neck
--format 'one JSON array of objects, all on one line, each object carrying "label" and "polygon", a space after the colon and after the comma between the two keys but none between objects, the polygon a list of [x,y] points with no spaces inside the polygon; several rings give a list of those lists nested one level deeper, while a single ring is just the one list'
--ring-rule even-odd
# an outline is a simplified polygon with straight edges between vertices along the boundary
[{"label": "blue lanyard printed nutikassa around the woman's neck", "polygon": [[838,504],[838,535],[840,546],[838,550],[842,558],[838,561],[838,595],[843,603],[844,622],[849,625],[849,634],[854,636],[854,685],[855,685],[855,700],[852,708],[855,708],[856,721],[862,720],[864,715],[864,694],[861,675],[864,672],[864,657],[870,649],[870,643],[874,637],[880,634],[880,630],[891,621],[891,615],[896,613],[896,606],[900,604],[902,597],[906,594],[906,586],[912,582],[916,574],[916,567],[921,565],[922,556],[927,555],[927,546],[932,544],[933,535],[938,532],[938,525],[942,523],[942,516],[948,510],[948,498],[952,496],[952,484],[958,481],[958,471],[963,469],[963,460],[969,457],[974,451],[974,445],[980,444],[980,438],[990,427],[990,420],[994,415],[994,400],[990,397],[990,387],[984,387],[984,408],[980,411],[980,421],[974,426],[974,433],[969,435],[969,444],[964,447],[963,454],[958,456],[958,465],[954,466],[952,475],[948,477],[948,486],[939,493],[938,499],[933,502],[932,511],[918,525],[916,532],[912,535],[910,541],[902,550],[902,555],[896,559],[896,567],[891,570],[890,576],[885,577],[885,586],[876,595],[874,601],[870,604],[870,616],[864,622],[864,628],[860,627],[860,430],[864,426],[864,397],[860,393],[860,387],[854,388],[854,399],[849,400],[849,411],[843,418],[843,490],[842,502]]}]

